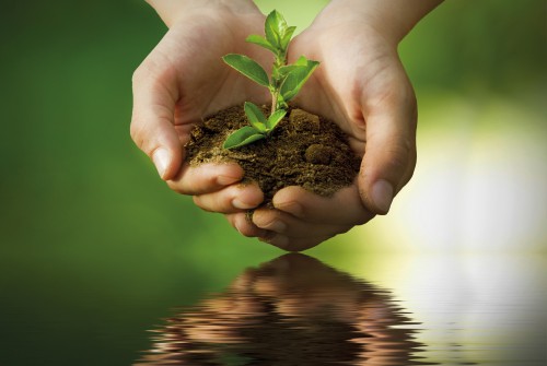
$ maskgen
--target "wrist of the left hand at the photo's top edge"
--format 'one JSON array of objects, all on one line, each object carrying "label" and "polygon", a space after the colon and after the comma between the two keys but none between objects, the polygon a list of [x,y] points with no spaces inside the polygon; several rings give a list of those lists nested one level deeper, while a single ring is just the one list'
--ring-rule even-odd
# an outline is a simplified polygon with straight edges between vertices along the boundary
[{"label": "wrist of the left hand at the photo's top edge", "polygon": [[230,11],[247,13],[257,11],[252,0],[146,0],[171,27],[178,19],[199,11]]}]

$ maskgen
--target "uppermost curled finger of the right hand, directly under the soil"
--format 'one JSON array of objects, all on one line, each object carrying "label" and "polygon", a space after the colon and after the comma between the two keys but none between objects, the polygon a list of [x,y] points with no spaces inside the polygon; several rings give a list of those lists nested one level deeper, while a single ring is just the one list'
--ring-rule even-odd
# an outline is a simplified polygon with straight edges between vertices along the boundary
[{"label": "uppermost curled finger of the right hand, directly under the soil", "polygon": [[321,197],[301,187],[287,187],[274,196],[274,206],[311,224],[361,225],[374,214],[363,206],[357,187],[340,189],[333,197]]}]

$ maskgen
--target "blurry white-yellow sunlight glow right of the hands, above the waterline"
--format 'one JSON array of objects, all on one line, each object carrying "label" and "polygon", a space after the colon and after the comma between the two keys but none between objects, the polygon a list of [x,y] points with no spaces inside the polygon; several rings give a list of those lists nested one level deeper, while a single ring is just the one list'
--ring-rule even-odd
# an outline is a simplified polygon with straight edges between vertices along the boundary
[{"label": "blurry white-yellow sunlight glow right of the hands, above the waterline", "polygon": [[540,116],[504,99],[428,101],[415,177],[386,217],[354,231],[372,250],[539,251],[547,239]]}]

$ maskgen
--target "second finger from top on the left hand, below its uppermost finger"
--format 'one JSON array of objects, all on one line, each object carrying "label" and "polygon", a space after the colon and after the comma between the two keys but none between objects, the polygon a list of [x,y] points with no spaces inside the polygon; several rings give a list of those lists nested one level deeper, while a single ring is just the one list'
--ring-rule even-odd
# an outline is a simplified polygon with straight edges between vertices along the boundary
[{"label": "second finger from top on the left hand, below its uppermost finger", "polygon": [[199,208],[220,213],[255,209],[263,201],[263,191],[256,185],[232,185],[213,193],[194,197],[194,203]]}]

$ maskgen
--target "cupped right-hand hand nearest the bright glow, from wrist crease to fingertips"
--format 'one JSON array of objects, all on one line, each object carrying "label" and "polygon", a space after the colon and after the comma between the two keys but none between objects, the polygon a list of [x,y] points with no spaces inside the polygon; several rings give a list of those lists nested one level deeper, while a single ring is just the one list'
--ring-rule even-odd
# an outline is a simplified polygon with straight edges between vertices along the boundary
[{"label": "cupped right-hand hand nearest the bright glow, from wrist crease to fingertips", "polygon": [[[385,28],[383,28],[384,26]],[[337,122],[363,156],[352,186],[333,198],[296,187],[274,197],[276,210],[229,221],[247,236],[286,250],[311,248],[389,210],[416,164],[417,106],[389,24],[368,24],[351,9],[327,7],[292,43],[292,60],[321,61],[296,103]]]}]

